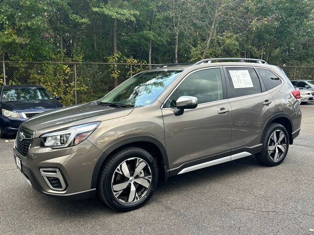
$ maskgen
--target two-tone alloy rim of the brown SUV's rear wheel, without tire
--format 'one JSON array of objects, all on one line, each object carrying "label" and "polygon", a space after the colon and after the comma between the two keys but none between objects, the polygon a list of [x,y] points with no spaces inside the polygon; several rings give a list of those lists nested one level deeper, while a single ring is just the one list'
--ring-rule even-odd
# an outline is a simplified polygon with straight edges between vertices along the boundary
[{"label": "two-tone alloy rim of the brown SUV's rear wheel, without tire", "polygon": [[282,130],[274,131],[268,140],[268,154],[273,161],[278,162],[285,156],[287,147],[286,135]]}]

